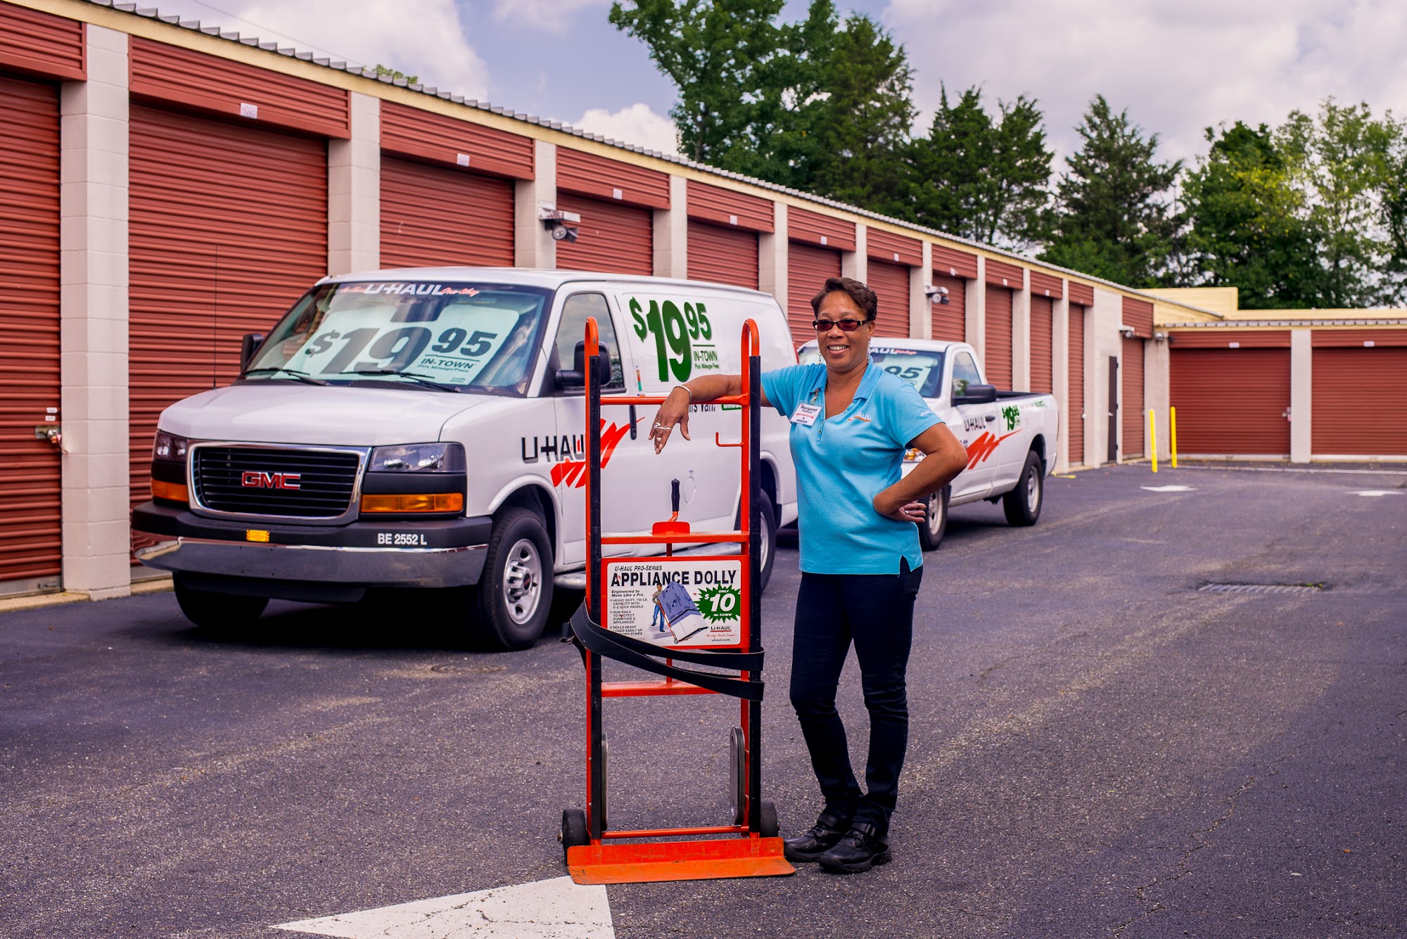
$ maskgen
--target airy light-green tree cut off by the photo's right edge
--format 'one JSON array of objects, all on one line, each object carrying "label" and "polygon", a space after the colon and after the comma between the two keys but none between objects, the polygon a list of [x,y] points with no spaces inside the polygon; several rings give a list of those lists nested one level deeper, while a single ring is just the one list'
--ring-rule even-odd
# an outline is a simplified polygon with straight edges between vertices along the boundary
[{"label": "airy light-green tree cut off by the photo's right edge", "polygon": [[1389,111],[1325,98],[1276,129],[1323,267],[1318,306],[1393,305],[1407,295],[1403,252],[1404,125]]}]

